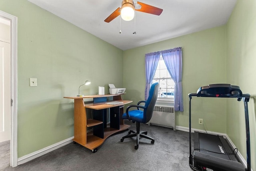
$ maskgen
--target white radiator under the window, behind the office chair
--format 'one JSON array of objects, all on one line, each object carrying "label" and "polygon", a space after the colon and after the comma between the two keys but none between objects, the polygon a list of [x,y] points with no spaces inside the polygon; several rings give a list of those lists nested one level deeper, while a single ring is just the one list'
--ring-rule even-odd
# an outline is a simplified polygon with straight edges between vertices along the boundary
[{"label": "white radiator under the window, behind the office chair", "polygon": [[155,105],[152,118],[148,125],[158,125],[163,127],[172,127],[175,131],[175,111],[174,107]]}]

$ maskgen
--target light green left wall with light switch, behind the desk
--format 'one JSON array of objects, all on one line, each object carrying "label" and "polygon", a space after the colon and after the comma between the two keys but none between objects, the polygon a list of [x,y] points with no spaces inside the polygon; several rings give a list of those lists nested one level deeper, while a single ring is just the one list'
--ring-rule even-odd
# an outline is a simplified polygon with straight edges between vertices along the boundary
[{"label": "light green left wall with light switch, behind the desk", "polygon": [[[27,0],[1,0],[18,17],[18,157],[74,135],[73,100],[123,87],[123,51]],[[37,87],[29,87],[37,78]]]}]

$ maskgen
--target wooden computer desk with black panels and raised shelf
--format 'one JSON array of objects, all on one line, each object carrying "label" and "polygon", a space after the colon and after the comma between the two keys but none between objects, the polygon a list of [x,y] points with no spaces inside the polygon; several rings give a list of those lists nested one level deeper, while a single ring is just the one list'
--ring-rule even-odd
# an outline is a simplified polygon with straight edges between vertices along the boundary
[{"label": "wooden computer desk with black panels and raised shelf", "polygon": [[[93,98],[97,100],[102,97],[113,97],[114,101],[122,101],[122,104],[108,105],[106,102],[100,103],[84,103],[84,98]],[[125,125],[122,119],[124,113],[124,105],[131,103],[130,100],[122,100],[120,94],[108,95],[87,95],[83,97],[64,97],[74,99],[74,139],[73,141],[83,145],[95,153],[100,145],[112,134],[126,130],[130,125]],[[86,108],[93,109],[94,119],[87,119]],[[106,125],[101,113],[102,109],[110,108],[110,125]],[[93,127],[93,132],[87,133],[87,128]]]}]

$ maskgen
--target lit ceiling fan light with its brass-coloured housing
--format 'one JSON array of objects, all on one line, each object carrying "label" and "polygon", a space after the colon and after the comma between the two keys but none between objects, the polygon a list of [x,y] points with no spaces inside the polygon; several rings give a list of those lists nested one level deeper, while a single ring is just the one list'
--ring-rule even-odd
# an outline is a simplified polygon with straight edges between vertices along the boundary
[{"label": "lit ceiling fan light with its brass-coloured housing", "polygon": [[121,7],[121,18],[130,21],[134,18],[134,3],[131,0],[123,0]]}]

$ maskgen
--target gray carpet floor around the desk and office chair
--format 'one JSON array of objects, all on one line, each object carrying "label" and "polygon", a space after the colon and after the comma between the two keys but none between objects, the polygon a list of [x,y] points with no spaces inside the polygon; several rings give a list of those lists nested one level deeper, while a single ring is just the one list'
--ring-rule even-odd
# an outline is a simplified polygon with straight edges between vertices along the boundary
[{"label": "gray carpet floor around the desk and office chair", "polygon": [[[136,130],[136,123],[130,124]],[[120,139],[128,131],[112,135],[98,147],[96,153],[79,145],[70,143],[46,155],[12,168],[10,162],[10,141],[0,144],[1,171],[191,171],[189,159],[189,133],[173,131],[166,127],[141,124],[141,131],[155,138],[151,144],[149,139],[140,139],[139,148],[134,149],[136,137]],[[2,149],[3,146],[7,148]],[[6,160],[6,158],[8,158]],[[6,161],[8,164],[6,164]]]}]

